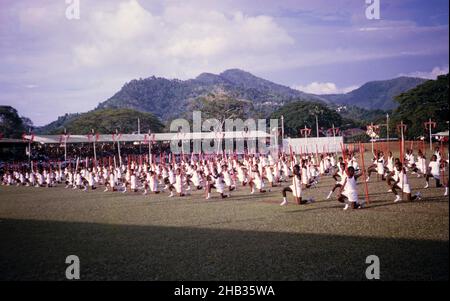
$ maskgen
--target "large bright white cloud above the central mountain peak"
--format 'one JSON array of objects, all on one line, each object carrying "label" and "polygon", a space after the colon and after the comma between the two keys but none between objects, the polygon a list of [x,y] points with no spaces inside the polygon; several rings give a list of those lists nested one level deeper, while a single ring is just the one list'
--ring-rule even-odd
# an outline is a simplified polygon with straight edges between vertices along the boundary
[{"label": "large bright white cloud above the central mountain peak", "polygon": [[247,56],[261,58],[294,43],[272,17],[240,11],[168,5],[154,14],[128,0],[113,12],[97,11],[87,18],[88,39],[73,47],[79,67],[141,68],[147,76],[149,70],[185,78],[213,71],[205,70],[212,65],[217,71],[242,67]]}]

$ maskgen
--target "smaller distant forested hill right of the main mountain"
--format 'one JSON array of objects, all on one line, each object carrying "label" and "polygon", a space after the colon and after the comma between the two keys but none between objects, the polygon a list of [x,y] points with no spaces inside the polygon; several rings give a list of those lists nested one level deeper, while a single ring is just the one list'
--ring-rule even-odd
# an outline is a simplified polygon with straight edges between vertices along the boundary
[{"label": "smaller distant forested hill right of the main mountain", "polygon": [[371,81],[346,94],[321,95],[336,104],[352,105],[368,110],[392,110],[398,106],[395,96],[406,92],[426,80],[398,77],[390,80]]}]

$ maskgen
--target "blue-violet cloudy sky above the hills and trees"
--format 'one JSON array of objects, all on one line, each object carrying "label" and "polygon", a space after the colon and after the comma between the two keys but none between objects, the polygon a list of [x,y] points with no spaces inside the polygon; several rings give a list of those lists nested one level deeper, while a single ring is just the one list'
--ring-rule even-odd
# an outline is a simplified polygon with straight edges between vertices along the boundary
[{"label": "blue-violet cloudy sky above the hills and trees", "polygon": [[316,94],[433,79],[448,19],[448,0],[0,0],[0,105],[41,126],[153,75],[239,68]]}]

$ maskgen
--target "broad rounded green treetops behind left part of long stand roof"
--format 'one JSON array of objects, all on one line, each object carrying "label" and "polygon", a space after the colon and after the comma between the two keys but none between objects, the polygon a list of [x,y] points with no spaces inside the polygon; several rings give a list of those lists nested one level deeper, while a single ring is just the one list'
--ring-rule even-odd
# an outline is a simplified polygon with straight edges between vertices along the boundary
[{"label": "broad rounded green treetops behind left part of long stand roof", "polygon": [[164,125],[151,113],[138,112],[131,109],[102,109],[83,114],[70,114],[59,117],[58,120],[38,129],[39,134],[61,134],[64,128],[68,133],[88,134],[91,129],[107,134],[118,129],[121,133],[137,132],[137,120],[140,121],[141,133],[150,129],[161,132]]}]

